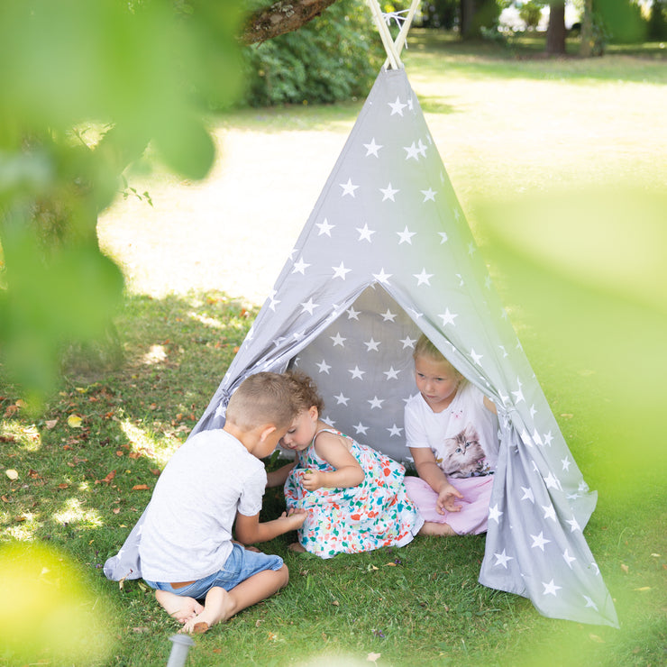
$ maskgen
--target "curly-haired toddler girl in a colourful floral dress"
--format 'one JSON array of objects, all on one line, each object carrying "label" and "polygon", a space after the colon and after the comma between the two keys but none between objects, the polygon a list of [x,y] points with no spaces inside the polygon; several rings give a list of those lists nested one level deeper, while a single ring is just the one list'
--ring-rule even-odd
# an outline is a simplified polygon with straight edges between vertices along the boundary
[{"label": "curly-haired toddler girl in a colourful floral dress", "polygon": [[411,542],[423,521],[407,498],[405,468],[320,421],[324,402],[313,380],[288,377],[301,410],[280,441],[296,461],[281,470],[288,511],[307,511],[292,548],[331,558]]}]

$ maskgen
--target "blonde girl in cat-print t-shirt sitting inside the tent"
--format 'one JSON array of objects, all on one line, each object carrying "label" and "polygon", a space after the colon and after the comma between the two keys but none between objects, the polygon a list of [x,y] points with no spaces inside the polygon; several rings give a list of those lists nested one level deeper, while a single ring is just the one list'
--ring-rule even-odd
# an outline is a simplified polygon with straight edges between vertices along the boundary
[{"label": "blonde girl in cat-print t-shirt sitting inside the tent", "polygon": [[424,335],[413,357],[419,393],[407,401],[405,425],[419,477],[405,483],[425,519],[420,533],[484,533],[498,460],[496,407]]}]

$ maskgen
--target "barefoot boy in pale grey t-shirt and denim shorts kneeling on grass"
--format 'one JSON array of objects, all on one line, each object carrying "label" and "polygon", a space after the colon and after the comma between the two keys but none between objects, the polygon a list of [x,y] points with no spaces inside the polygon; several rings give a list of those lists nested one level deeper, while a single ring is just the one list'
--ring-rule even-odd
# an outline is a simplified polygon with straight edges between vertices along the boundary
[{"label": "barefoot boy in pale grey t-shirt and denim shorts kneeling on grass", "polygon": [[260,459],[296,413],[286,378],[251,375],[230,398],[224,428],[194,435],[160,475],[139,546],[142,576],[183,632],[206,632],[287,586],[282,559],[233,543],[232,526],[235,520],[239,541],[253,544],[303,524],[305,513],[259,520],[267,482]]}]

